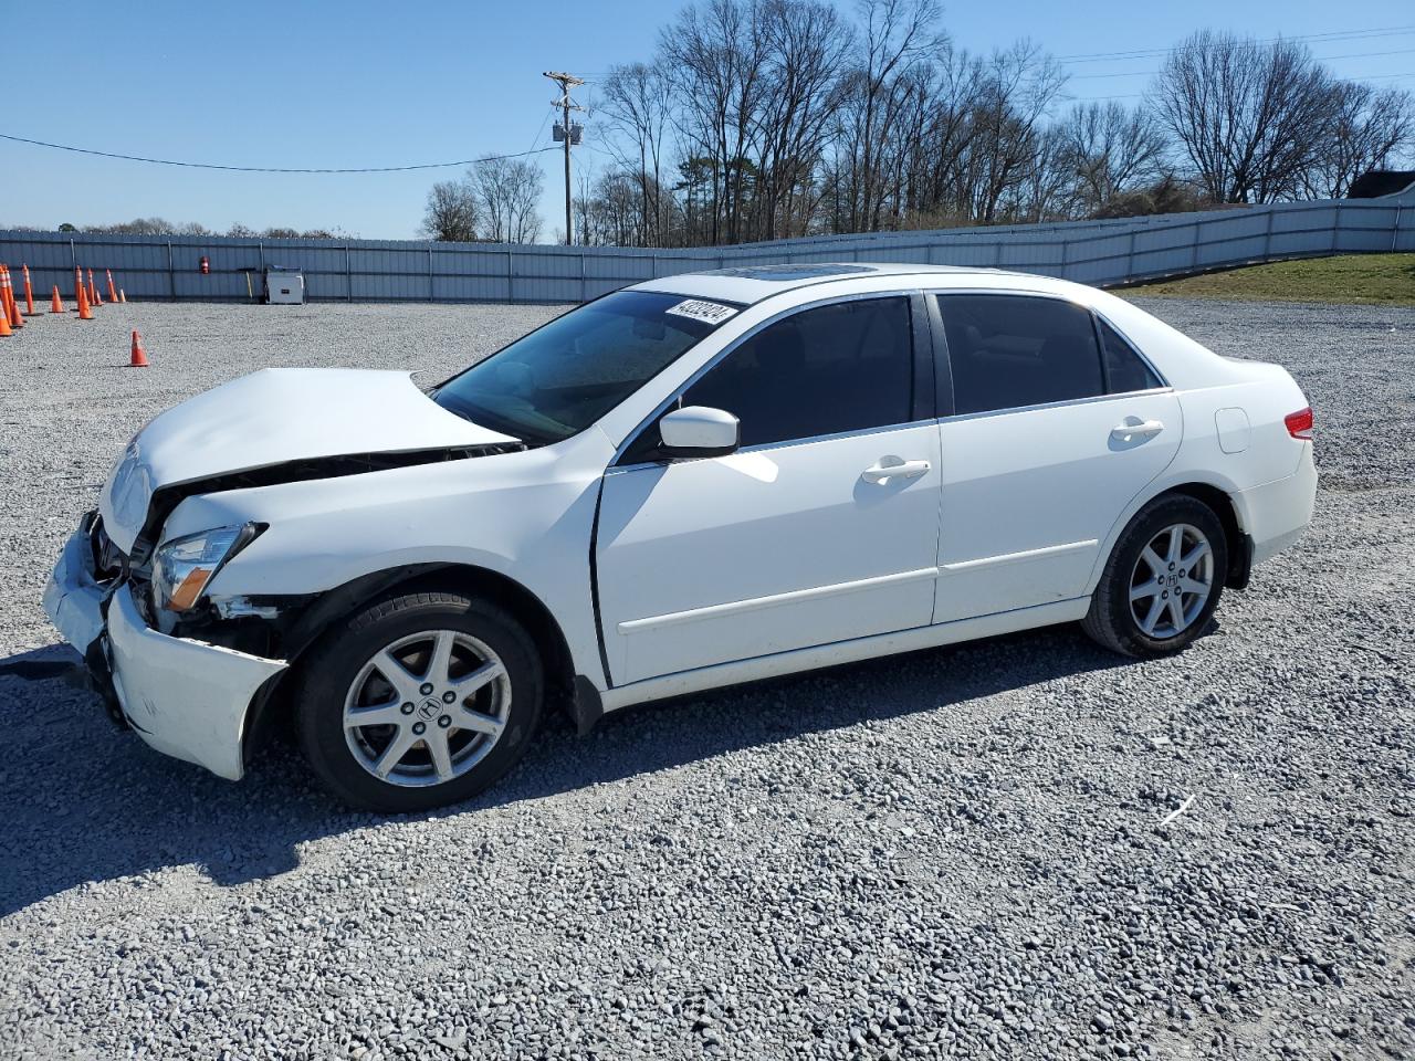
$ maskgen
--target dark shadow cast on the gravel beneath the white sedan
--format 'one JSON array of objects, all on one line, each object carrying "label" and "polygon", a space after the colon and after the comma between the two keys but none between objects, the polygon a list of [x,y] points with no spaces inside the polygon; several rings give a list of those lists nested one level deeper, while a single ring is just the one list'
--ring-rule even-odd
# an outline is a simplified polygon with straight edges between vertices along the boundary
[{"label": "dark shadow cast on the gravel beneath the white sedan", "polygon": [[[150,887],[195,866],[224,887],[299,866],[299,846],[375,826],[276,741],[239,784],[147,748],[61,676],[64,645],[0,659],[0,915],[95,881]],[[948,710],[1003,690],[1125,666],[1074,627],[927,649],[644,705],[579,737],[552,716],[526,760],[483,796],[415,819],[494,812],[740,748],[867,720]]]}]

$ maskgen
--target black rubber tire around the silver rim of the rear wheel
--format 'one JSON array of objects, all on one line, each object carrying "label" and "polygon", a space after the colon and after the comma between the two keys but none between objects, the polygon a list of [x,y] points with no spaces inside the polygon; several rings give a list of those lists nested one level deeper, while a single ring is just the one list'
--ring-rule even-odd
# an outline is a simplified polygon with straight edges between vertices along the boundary
[{"label": "black rubber tire around the silver rim of the rear wheel", "polygon": [[[1208,540],[1211,550],[1208,596],[1179,632],[1172,632],[1177,624],[1166,622],[1165,627],[1156,627],[1155,635],[1150,635],[1142,627],[1143,620],[1135,614],[1131,591],[1132,587],[1140,590],[1142,583],[1143,589],[1150,589],[1149,583],[1140,577],[1140,553],[1156,538],[1176,526],[1197,529]],[[1165,566],[1173,570],[1173,564],[1166,563]],[[1143,570],[1150,570],[1148,562]],[[1223,521],[1214,511],[1203,501],[1184,494],[1156,498],[1136,512],[1125,530],[1121,532],[1115,549],[1111,550],[1111,557],[1105,563],[1105,570],[1101,573],[1101,581],[1091,596],[1091,610],[1081,620],[1081,628],[1097,644],[1126,656],[1149,659],[1172,655],[1187,648],[1208,625],[1208,620],[1213,618],[1214,610],[1218,607],[1227,574],[1228,539]],[[1156,581],[1160,586],[1165,584],[1159,579]],[[1163,591],[1167,594],[1170,590],[1166,587]],[[1157,603],[1155,597],[1146,600],[1149,604]],[[1193,604],[1199,603],[1197,597],[1190,600]],[[1162,607],[1167,607],[1167,604]],[[1146,605],[1145,610],[1149,611],[1149,607]],[[1180,610],[1184,610],[1183,603]]]}]

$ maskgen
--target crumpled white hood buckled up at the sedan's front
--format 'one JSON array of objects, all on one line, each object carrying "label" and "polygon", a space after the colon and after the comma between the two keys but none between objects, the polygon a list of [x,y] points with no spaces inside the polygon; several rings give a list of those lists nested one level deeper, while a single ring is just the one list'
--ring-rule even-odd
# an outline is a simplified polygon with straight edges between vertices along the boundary
[{"label": "crumpled white hood buckled up at the sedan's front", "polygon": [[109,538],[130,552],[163,487],[320,457],[509,441],[429,400],[410,372],[267,368],[149,423],[103,485],[99,511]]}]

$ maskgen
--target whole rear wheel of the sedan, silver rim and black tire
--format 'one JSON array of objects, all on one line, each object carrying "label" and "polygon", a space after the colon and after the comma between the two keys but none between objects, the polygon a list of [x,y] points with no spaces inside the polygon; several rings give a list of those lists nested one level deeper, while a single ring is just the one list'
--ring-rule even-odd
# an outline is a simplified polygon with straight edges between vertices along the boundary
[{"label": "whole rear wheel of the sedan, silver rim and black tire", "polygon": [[1081,625],[1129,656],[1177,652],[1208,624],[1227,570],[1228,542],[1214,511],[1187,495],[1157,498],[1121,533]]}]

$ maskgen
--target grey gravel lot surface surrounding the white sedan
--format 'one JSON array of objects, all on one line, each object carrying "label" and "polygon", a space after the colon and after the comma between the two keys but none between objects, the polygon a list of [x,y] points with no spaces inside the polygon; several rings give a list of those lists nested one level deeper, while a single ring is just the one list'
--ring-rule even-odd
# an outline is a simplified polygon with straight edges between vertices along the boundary
[{"label": "grey gravel lot surface surrounding the white sedan", "polygon": [[262,365],[436,376],[552,311],[0,341],[0,1057],[1415,1058],[1415,310],[1145,304],[1317,413],[1312,532],[1183,656],[1053,628],[555,723],[393,819],[289,748],[232,785],[113,730],[45,676],[40,591],[164,406]]}]

